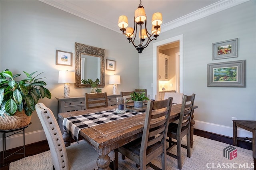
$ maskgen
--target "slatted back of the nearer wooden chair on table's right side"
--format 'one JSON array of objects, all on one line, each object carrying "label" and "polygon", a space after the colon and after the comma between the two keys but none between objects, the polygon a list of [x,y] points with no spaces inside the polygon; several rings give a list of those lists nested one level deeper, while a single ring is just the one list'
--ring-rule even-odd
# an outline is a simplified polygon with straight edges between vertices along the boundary
[{"label": "slatted back of the nearer wooden chair on table's right side", "polygon": [[161,143],[166,150],[166,132],[168,129],[171,107],[172,97],[162,101],[148,101],[140,146],[140,156],[146,158],[147,147],[154,144]]}]

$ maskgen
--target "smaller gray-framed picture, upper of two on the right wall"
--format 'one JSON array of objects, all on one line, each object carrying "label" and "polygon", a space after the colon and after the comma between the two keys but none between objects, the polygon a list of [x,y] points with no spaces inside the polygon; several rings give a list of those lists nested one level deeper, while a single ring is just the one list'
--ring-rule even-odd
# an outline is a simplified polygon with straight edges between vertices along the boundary
[{"label": "smaller gray-framed picture, upper of two on the right wall", "polygon": [[238,38],[212,43],[212,60],[238,57]]}]

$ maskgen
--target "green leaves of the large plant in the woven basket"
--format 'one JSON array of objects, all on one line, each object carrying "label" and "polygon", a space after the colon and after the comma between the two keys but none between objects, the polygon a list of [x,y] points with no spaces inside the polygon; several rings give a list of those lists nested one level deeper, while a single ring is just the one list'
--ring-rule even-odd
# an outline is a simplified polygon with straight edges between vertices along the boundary
[{"label": "green leaves of the large plant in the woven basket", "polygon": [[41,97],[51,99],[50,91],[44,87],[46,83],[40,80],[46,77],[36,79],[44,72],[32,77],[36,72],[29,74],[23,71],[27,77],[21,81],[14,80],[21,74],[13,75],[8,69],[0,73],[0,116],[4,116],[4,113],[13,116],[17,110],[22,109],[26,115],[31,116]]}]

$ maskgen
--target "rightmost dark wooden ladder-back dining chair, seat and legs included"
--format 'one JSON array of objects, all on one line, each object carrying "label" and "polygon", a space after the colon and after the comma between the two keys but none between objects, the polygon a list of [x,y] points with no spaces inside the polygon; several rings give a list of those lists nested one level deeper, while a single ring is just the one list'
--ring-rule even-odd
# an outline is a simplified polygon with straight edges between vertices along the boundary
[{"label": "rightmost dark wooden ladder-back dining chair, seat and legs included", "polygon": [[[181,147],[187,149],[187,156],[190,158],[190,121],[193,113],[193,106],[195,101],[195,94],[190,96],[184,95],[182,101],[182,107],[180,111],[180,117],[178,124],[170,123],[168,127],[166,140],[168,142],[167,155],[172,156],[178,160],[178,169],[182,169],[181,162]],[[181,139],[187,136],[187,146],[181,144]],[[172,141],[176,139],[176,142]],[[170,153],[169,151],[177,145],[177,155]]]}]

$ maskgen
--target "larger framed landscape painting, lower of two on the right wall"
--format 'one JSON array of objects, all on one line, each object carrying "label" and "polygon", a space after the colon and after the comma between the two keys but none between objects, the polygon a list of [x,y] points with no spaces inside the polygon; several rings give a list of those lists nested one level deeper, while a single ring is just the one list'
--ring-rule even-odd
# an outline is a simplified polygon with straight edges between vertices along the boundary
[{"label": "larger framed landscape painting, lower of two on the right wall", "polygon": [[245,87],[246,60],[207,64],[207,87]]}]

